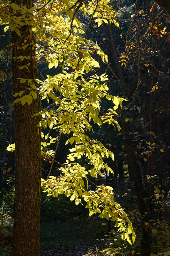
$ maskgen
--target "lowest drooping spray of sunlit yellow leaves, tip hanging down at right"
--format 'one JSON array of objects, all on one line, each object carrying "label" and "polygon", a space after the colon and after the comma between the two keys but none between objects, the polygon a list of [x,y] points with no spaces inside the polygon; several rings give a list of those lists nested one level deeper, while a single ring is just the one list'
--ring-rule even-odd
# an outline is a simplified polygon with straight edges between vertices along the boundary
[{"label": "lowest drooping spray of sunlit yellow leaves, tip hanging down at right", "polygon": [[[134,243],[136,236],[131,222],[120,205],[114,201],[112,188],[101,185],[98,186],[96,191],[86,190],[83,181],[83,176],[86,176],[85,168],[79,164],[69,166],[69,169],[63,168],[63,177],[49,178],[48,181],[42,180],[44,191],[47,191],[48,195],[52,194],[55,197],[64,193],[67,197],[70,197],[71,201],[75,201],[75,204],[82,203],[81,198],[83,198],[87,204],[86,208],[89,209],[90,216],[98,213],[102,219],[106,218],[106,220],[109,220],[111,218],[113,221],[116,221],[115,227],[124,232],[122,239],[127,239],[129,244],[132,244],[129,238],[131,234]],[[63,189],[61,190],[61,188]]]}]

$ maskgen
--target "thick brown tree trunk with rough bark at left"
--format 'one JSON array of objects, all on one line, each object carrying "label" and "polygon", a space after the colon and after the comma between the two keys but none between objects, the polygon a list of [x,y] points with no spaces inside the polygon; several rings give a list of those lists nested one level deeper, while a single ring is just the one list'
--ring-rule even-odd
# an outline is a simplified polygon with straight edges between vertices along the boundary
[{"label": "thick brown tree trunk with rough bark at left", "polygon": [[[33,1],[13,1],[20,7],[26,5],[31,8]],[[29,14],[28,14],[29,15]],[[25,25],[20,28],[21,37],[12,32],[12,80],[13,91],[19,93],[24,90],[23,95],[31,91],[26,83],[20,83],[20,79],[37,79],[37,67],[35,65],[35,35],[32,27]],[[25,40],[25,42],[24,42]],[[22,48],[26,45],[26,48]],[[17,60],[19,56],[29,56],[23,61]],[[14,58],[15,57],[15,58]],[[19,66],[25,66],[28,69]],[[22,96],[23,96],[22,95]],[[36,100],[31,105],[27,103],[14,104],[15,111],[15,207],[14,207],[14,228],[13,228],[13,256],[38,256],[39,255],[39,227],[40,227],[40,205],[41,205],[41,129],[37,127],[39,116],[30,117],[40,112],[38,93]]]}]

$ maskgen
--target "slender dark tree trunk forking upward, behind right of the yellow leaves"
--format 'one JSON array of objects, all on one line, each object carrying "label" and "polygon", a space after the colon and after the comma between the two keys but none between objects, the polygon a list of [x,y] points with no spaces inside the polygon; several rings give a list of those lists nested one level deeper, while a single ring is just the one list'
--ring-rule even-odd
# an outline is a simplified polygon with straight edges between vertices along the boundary
[{"label": "slender dark tree trunk forking upward, behind right of the yellow leaves", "polygon": [[[122,90],[122,94],[123,96],[129,98],[131,96],[131,94],[133,93],[133,91],[136,89],[137,86],[137,81],[138,81],[138,77],[136,79],[134,79],[134,82],[131,86],[131,89],[129,90],[129,92],[126,91],[126,86],[125,86],[125,81],[124,81],[124,77],[123,77],[123,73],[122,73],[122,69],[121,66],[119,64],[119,60],[117,57],[117,53],[116,53],[116,46],[115,46],[115,41],[114,39],[110,36],[110,29],[109,27],[104,24],[106,27],[106,31],[108,36],[110,37],[110,55],[112,60],[114,61],[114,65],[116,68],[116,73],[117,73],[117,77],[119,78],[120,81],[120,87]],[[141,75],[144,73],[145,68],[143,68],[141,70]],[[129,128],[128,128],[128,124],[125,122],[125,119],[127,118],[126,116],[126,109],[123,109],[121,111],[121,120],[122,120],[122,130],[124,133],[124,137],[125,137],[125,142],[124,142],[124,146],[125,146],[125,152],[127,155],[127,162],[128,165],[131,167],[133,174],[135,176],[135,191],[136,191],[136,196],[137,196],[137,202],[138,202],[138,208],[139,208],[139,212],[140,214],[143,216],[142,217],[142,243],[141,243],[141,256],[149,256],[150,255],[150,241],[151,241],[151,227],[150,225],[145,225],[144,222],[148,222],[149,221],[149,214],[145,214],[147,212],[147,207],[146,204],[144,202],[144,192],[143,192],[143,185],[142,185],[142,175],[141,175],[141,170],[140,170],[140,166],[139,164],[136,162],[135,160],[135,154],[134,151],[131,149],[131,141],[130,141],[130,137],[129,137]],[[119,169],[119,168],[118,168]]]}]

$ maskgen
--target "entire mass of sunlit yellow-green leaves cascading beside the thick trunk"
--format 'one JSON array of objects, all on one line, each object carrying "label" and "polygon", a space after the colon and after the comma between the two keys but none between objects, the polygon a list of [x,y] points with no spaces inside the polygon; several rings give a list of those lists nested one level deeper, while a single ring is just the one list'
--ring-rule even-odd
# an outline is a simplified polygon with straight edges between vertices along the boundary
[{"label": "entire mass of sunlit yellow-green leaves cascading beside the thick trunk", "polygon": [[[96,53],[103,62],[108,61],[107,55],[97,43],[84,36],[84,25],[82,26],[78,17],[74,15],[79,3],[75,0],[63,0],[53,2],[52,6],[50,2],[45,6],[43,4],[43,1],[35,2],[34,9],[26,9],[25,6],[19,8],[17,4],[0,2],[0,12],[3,13],[1,24],[9,25],[11,31],[15,31],[19,36],[20,29],[26,24],[37,36],[37,44],[25,38],[22,45],[24,50],[29,45],[33,49],[36,48],[37,52],[36,59],[34,56],[17,57],[21,74],[31,68],[32,60],[34,65],[37,65],[40,58],[45,60],[48,69],[56,69],[56,75],[47,75],[43,81],[27,80],[25,76],[18,78],[23,89],[14,95],[14,103],[21,105],[31,105],[38,97],[38,93],[41,100],[45,99],[52,103],[47,109],[34,113],[33,116],[40,115],[39,127],[56,128],[60,134],[68,137],[66,144],[72,145],[65,163],[61,164],[61,175],[57,178],[49,176],[47,181],[42,179],[43,192],[53,197],[65,194],[76,205],[82,204],[84,199],[90,216],[100,214],[100,218],[115,221],[115,227],[125,234],[122,238],[132,244],[129,235],[132,234],[133,242],[135,235],[131,222],[121,206],[114,201],[112,187],[100,185],[94,191],[89,190],[87,177],[89,175],[97,178],[102,172],[113,174],[113,170],[103,159],[110,157],[114,160],[114,154],[101,142],[92,138],[90,122],[93,121],[99,127],[102,122],[108,122],[117,126],[120,131],[116,110],[119,106],[122,107],[122,101],[126,99],[109,95],[107,75],[98,76],[94,73],[96,68],[100,68]],[[71,8],[72,6],[74,8]],[[6,7],[11,8],[10,13],[6,11]],[[89,1],[86,5],[80,5],[79,11],[90,19],[96,18],[94,22],[97,22],[98,26],[109,21],[119,27],[117,14],[110,6],[109,0],[100,0],[98,5],[95,1]],[[30,59],[27,65],[22,64],[25,58]],[[127,63],[126,59],[123,58],[123,63]],[[60,74],[57,74],[58,66],[63,70]],[[113,107],[100,117],[100,105],[104,97],[112,101]],[[42,138],[42,159],[52,163],[54,151],[49,150],[47,146],[58,141],[58,137],[52,138],[48,133],[46,136],[42,134]],[[9,149],[13,149],[13,146],[10,145]],[[87,159],[87,169],[78,162],[83,156]]]}]

